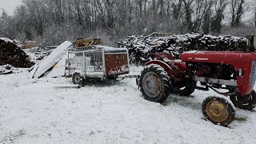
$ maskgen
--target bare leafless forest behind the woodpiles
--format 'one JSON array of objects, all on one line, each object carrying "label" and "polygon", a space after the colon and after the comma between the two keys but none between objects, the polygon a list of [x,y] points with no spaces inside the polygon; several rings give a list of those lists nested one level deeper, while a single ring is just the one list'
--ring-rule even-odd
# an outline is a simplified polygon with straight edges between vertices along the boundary
[{"label": "bare leafless forest behind the woodpiles", "polygon": [[[248,0],[247,0],[248,1]],[[42,46],[76,38],[102,38],[115,46],[132,34],[255,34],[245,25],[246,0],[23,0],[14,15],[0,10],[0,37]],[[223,25],[225,23],[225,25]]]}]

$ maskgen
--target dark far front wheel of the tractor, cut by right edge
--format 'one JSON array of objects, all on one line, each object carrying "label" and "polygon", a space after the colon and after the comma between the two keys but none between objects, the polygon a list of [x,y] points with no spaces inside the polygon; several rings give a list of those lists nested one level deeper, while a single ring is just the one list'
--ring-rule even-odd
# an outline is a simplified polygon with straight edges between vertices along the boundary
[{"label": "dark far front wheel of the tractor, cut by right edge", "polygon": [[250,94],[243,97],[240,94],[232,94],[230,95],[230,100],[234,106],[242,110],[253,110],[256,106],[256,93],[252,90]]}]

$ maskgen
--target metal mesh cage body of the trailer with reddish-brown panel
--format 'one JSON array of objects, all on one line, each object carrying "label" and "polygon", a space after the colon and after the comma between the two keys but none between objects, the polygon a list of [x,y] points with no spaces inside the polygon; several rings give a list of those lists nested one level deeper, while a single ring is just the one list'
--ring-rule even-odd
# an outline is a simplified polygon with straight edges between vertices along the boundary
[{"label": "metal mesh cage body of the trailer with reddish-brown panel", "polygon": [[110,78],[128,74],[128,52],[122,49],[70,51],[66,62],[66,76],[78,72],[85,78]]}]

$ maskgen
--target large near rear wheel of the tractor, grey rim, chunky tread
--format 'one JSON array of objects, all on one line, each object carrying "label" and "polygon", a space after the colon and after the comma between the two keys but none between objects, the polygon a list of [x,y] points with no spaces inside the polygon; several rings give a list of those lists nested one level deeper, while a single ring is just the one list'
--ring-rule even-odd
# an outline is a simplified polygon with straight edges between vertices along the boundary
[{"label": "large near rear wheel of the tractor, grey rim, chunky tread", "polygon": [[142,70],[139,87],[145,99],[164,102],[170,94],[170,77],[161,66],[152,64]]}]

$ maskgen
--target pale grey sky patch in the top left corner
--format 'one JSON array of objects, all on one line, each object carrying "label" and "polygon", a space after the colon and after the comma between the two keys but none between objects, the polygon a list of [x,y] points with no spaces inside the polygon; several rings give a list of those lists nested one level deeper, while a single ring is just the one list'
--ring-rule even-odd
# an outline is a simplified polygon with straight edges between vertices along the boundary
[{"label": "pale grey sky patch in the top left corner", "polygon": [[[0,0],[0,9],[6,10],[7,14],[14,14],[14,9],[16,6],[21,5],[22,0]],[[0,10],[2,12],[2,10]]]}]

